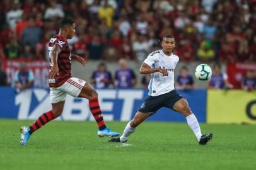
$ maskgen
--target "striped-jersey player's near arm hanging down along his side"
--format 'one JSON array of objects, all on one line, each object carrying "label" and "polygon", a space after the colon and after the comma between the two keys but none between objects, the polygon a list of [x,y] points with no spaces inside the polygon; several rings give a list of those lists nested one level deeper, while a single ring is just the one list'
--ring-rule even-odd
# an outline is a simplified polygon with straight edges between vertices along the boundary
[{"label": "striped-jersey player's near arm hanging down along his side", "polygon": [[61,52],[61,48],[58,45],[54,45],[52,47],[52,52],[50,53],[50,65],[52,68],[50,69],[49,79],[53,79],[55,75],[59,75],[59,69],[58,69],[58,55]]}]

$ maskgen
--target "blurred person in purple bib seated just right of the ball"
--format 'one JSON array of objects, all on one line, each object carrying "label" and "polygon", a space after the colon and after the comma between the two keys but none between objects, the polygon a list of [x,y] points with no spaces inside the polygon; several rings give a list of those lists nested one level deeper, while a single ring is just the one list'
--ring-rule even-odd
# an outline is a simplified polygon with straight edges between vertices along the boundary
[{"label": "blurred person in purple bib seated just right of the ball", "polygon": [[221,72],[221,65],[215,63],[213,65],[213,72],[210,81],[207,81],[208,89],[225,89],[230,88],[228,83],[228,75],[225,72]]}]

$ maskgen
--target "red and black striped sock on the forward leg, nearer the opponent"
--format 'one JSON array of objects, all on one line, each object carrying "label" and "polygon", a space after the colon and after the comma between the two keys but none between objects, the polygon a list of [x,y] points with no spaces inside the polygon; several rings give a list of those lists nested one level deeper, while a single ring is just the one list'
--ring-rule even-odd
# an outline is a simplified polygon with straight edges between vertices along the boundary
[{"label": "red and black striped sock on the forward leg, nearer the opponent", "polygon": [[102,110],[100,110],[100,105],[98,104],[98,98],[90,99],[89,107],[91,110],[91,114],[93,114],[98,124],[98,128],[100,130],[103,130],[104,128],[106,128],[105,122],[103,120]]}]

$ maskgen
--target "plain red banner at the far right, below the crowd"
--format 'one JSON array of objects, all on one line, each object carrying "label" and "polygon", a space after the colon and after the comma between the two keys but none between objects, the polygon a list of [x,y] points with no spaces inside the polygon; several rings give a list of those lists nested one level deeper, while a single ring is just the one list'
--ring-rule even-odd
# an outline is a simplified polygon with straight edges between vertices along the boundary
[{"label": "plain red banner at the far right, below the crowd", "polygon": [[241,88],[243,76],[249,69],[256,71],[256,64],[235,63],[227,65],[228,81],[233,84],[234,89]]}]

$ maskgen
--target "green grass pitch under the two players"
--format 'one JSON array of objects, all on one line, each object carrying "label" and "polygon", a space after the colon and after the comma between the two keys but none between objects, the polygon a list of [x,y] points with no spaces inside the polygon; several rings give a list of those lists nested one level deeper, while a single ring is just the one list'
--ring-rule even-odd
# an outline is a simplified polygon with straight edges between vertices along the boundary
[{"label": "green grass pitch under the two players", "polygon": [[[20,145],[20,127],[32,121],[0,120],[0,169],[256,169],[255,125],[207,125],[206,145],[187,123],[144,122],[126,144],[96,135],[95,122],[54,121]],[[126,122],[107,122],[122,133]]]}]

